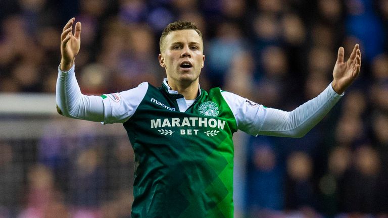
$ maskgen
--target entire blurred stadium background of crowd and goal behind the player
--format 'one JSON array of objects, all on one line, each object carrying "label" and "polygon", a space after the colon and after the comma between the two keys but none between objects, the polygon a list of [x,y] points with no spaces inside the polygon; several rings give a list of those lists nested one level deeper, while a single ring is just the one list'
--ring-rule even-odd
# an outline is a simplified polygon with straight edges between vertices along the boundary
[{"label": "entire blurred stadium background of crowd and goal behind the player", "polygon": [[388,0],[1,0],[0,217],[128,217],[133,151],[121,125],[55,111],[60,34],[82,22],[85,94],[158,86],[166,24],[204,33],[201,87],[293,110],[331,81],[337,48],[362,69],[301,139],[235,135],[235,217],[388,217]]}]

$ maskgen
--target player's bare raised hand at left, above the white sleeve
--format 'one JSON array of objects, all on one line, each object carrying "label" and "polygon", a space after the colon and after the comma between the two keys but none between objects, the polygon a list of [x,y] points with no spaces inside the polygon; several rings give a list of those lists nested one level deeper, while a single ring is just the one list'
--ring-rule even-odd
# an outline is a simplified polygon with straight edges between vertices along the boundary
[{"label": "player's bare raised hand at left, above the white sleeve", "polygon": [[79,52],[81,46],[81,23],[75,24],[75,31],[73,35],[73,23],[75,18],[67,22],[61,34],[61,70],[69,71],[74,64],[75,56]]}]

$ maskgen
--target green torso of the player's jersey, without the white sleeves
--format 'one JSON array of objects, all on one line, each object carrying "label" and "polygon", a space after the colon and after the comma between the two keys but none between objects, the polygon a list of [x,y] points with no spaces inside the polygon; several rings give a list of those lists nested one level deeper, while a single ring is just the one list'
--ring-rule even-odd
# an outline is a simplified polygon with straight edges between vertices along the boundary
[{"label": "green torso of the player's jersey, without the white sleeves", "polygon": [[233,217],[233,113],[219,88],[184,113],[182,97],[149,85],[124,123],[135,152],[132,217]]}]

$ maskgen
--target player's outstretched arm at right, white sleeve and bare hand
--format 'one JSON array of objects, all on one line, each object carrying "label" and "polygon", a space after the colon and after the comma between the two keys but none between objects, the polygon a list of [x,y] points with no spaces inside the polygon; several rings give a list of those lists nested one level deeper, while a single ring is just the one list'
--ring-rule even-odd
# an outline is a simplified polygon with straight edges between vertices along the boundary
[{"label": "player's outstretched arm at right, white sleeve and bare hand", "polygon": [[223,92],[236,118],[238,128],[252,135],[280,137],[303,137],[340,100],[360,73],[361,52],[356,44],[347,62],[344,62],[344,48],[338,49],[333,70],[333,81],[317,97],[305,102],[291,112],[266,108],[259,104],[246,103],[248,99]]}]

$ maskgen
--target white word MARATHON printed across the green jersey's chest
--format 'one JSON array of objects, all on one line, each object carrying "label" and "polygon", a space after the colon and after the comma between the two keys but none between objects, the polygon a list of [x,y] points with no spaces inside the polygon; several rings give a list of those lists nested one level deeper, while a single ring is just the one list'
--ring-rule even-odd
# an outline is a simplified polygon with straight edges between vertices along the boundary
[{"label": "white word MARATHON printed across the green jersey's chest", "polygon": [[[174,108],[175,109],[175,108]],[[225,121],[214,118],[185,117],[185,118],[164,118],[151,120],[151,129],[161,127],[211,127],[223,130]]]}]

